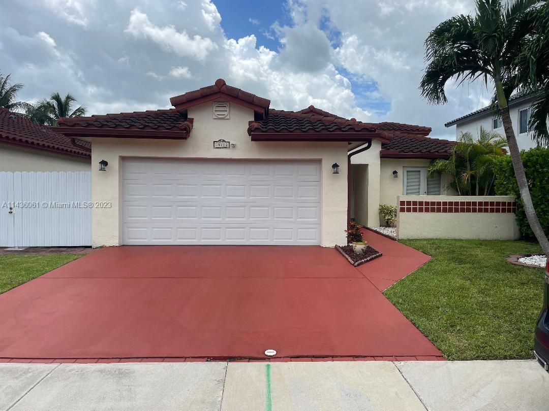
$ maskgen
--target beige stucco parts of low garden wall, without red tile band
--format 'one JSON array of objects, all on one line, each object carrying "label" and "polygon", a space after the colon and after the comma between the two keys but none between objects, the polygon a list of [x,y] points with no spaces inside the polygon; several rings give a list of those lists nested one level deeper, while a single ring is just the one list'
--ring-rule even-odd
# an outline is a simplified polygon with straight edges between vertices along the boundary
[{"label": "beige stucco parts of low garden wall, without red tile band", "polygon": [[[514,201],[513,196],[399,196],[398,201]],[[514,213],[401,213],[396,236],[404,238],[518,239]]]}]

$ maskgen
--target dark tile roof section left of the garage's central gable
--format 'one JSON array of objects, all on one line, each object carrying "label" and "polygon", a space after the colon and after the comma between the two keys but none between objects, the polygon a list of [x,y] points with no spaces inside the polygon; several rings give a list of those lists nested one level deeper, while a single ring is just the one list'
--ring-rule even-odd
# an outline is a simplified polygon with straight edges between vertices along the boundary
[{"label": "dark tile roof section left of the garage's central gable", "polygon": [[118,113],[93,115],[89,117],[61,118],[60,127],[89,127],[127,130],[181,130],[190,133],[193,128],[193,119],[186,118],[175,109],[134,111],[132,113]]}]

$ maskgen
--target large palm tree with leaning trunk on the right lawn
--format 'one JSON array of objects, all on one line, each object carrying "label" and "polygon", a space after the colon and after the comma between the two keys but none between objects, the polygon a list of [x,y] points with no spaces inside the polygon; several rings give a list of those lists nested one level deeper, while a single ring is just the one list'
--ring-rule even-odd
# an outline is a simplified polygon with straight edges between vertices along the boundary
[{"label": "large palm tree with leaning trunk on the right lawn", "polygon": [[[549,241],[532,203],[508,107],[513,92],[533,88],[530,83],[538,80],[526,75],[529,83],[524,84],[519,61],[536,60],[536,54],[525,58],[521,50],[528,50],[537,33],[546,30],[539,27],[546,3],[547,0],[509,0],[504,5],[501,0],[477,0],[474,16],[459,15],[440,23],[425,40],[428,65],[419,89],[430,103],[445,104],[444,86],[452,78],[458,84],[480,78],[486,87],[493,87],[492,105],[502,118],[524,212],[537,241],[549,256]],[[543,121],[545,124],[546,117]]]}]

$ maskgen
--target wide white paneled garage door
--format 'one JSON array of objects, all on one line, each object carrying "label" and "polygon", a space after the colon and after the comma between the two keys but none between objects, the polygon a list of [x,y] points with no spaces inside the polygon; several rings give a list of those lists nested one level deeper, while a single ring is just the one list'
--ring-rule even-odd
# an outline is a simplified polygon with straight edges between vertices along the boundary
[{"label": "wide white paneled garage door", "polygon": [[320,162],[128,158],[123,244],[320,244]]}]

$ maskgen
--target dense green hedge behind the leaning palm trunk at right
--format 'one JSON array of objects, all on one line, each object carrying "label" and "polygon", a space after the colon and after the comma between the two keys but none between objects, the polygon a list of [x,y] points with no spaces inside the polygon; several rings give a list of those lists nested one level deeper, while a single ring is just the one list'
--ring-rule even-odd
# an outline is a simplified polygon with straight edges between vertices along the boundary
[{"label": "dense green hedge behind the leaning palm trunk at right", "polygon": [[[536,147],[520,153],[526,172],[526,180],[530,195],[545,235],[549,235],[549,148]],[[528,219],[524,213],[524,205],[518,191],[517,179],[514,176],[511,157],[498,158],[494,172],[494,186],[497,196],[517,197],[517,222],[524,237],[534,237]]]}]

